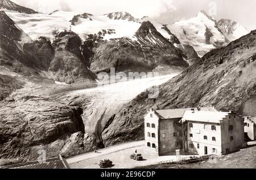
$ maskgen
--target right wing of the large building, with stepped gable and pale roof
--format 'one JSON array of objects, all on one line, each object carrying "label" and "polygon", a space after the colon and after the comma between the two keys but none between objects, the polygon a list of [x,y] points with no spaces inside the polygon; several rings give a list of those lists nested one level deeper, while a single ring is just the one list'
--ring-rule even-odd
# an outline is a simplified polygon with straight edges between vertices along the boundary
[{"label": "right wing of the large building, with stepped gable and pale roof", "polygon": [[221,155],[243,146],[243,118],[236,112],[186,111],[182,120],[188,124],[188,152]]}]

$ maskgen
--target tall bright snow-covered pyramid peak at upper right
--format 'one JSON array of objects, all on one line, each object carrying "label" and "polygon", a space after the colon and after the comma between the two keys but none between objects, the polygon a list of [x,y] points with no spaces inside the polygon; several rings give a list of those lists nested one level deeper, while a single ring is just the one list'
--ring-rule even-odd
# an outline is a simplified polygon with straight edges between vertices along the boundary
[{"label": "tall bright snow-covered pyramid peak at upper right", "polygon": [[205,11],[200,11],[195,18],[180,20],[167,27],[181,44],[191,45],[200,56],[226,43],[216,19]]}]

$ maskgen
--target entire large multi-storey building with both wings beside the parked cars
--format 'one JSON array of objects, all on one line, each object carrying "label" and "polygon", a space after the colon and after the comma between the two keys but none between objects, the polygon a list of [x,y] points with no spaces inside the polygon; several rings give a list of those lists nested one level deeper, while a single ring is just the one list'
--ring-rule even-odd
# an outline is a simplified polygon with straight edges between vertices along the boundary
[{"label": "entire large multi-storey building with both wings beside the parked cars", "polygon": [[144,123],[146,146],[159,156],[174,155],[178,149],[181,154],[228,154],[244,143],[243,118],[233,111],[218,112],[212,107],[150,110]]}]

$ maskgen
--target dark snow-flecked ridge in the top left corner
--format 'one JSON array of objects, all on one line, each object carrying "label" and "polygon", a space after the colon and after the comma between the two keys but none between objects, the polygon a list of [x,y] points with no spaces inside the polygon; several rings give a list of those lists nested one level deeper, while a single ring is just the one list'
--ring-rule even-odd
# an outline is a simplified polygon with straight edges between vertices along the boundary
[{"label": "dark snow-flecked ridge in the top left corner", "polygon": [[0,0],[0,10],[15,11],[15,12],[26,13],[26,14],[37,13],[32,9],[17,5],[16,3],[11,2],[9,0]]}]

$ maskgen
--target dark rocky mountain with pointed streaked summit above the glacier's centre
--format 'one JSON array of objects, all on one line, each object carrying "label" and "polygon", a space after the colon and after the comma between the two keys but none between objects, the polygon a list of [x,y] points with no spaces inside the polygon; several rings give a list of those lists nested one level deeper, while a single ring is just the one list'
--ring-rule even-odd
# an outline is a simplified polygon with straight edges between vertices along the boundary
[{"label": "dark rocky mountain with pointed streaked summit above the glacier's centre", "polygon": [[188,67],[183,59],[187,56],[164,38],[150,22],[141,24],[135,38],[136,40],[122,38],[97,43],[98,47],[92,51],[93,57],[89,57],[90,69],[95,73],[109,72],[110,68],[115,68],[116,72],[171,73]]}]

